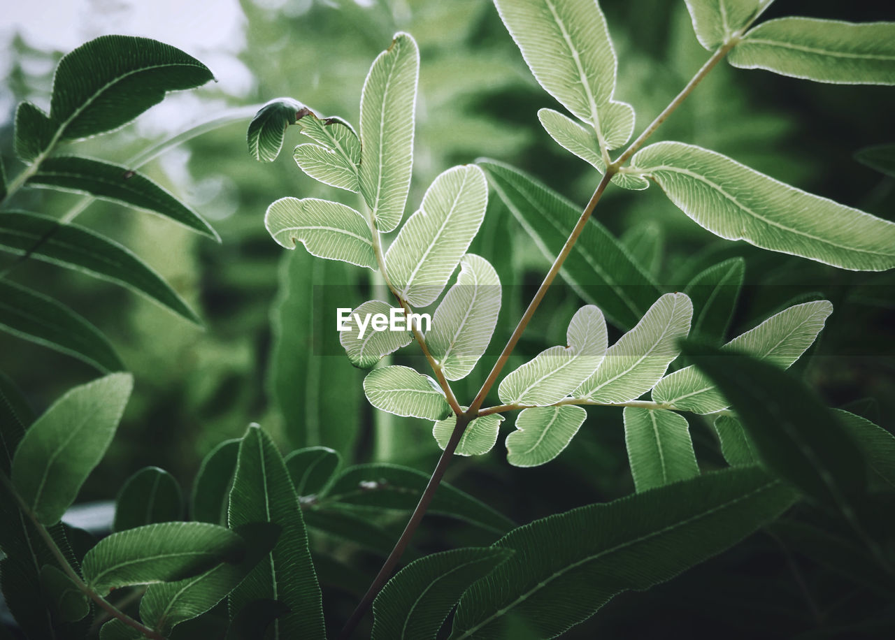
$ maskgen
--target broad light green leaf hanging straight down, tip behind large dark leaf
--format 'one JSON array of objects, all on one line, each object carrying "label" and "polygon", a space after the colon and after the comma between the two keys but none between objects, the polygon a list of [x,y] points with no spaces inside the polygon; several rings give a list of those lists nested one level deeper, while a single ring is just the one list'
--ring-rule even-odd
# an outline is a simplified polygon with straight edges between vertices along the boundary
[{"label": "broad light green leaf hanging straight down, tip behind large dark leaf", "polygon": [[686,418],[666,409],[626,407],[625,444],[637,493],[699,476]]}]

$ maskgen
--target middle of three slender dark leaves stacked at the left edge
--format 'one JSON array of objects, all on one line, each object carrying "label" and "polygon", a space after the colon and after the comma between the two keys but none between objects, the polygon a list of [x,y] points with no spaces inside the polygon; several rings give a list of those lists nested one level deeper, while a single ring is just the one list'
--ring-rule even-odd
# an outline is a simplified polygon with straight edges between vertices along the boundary
[{"label": "middle of three slender dark leaves stacked at the left edge", "polygon": [[194,324],[199,316],[149,265],[114,240],[76,224],[24,211],[0,214],[0,248],[117,282]]}]

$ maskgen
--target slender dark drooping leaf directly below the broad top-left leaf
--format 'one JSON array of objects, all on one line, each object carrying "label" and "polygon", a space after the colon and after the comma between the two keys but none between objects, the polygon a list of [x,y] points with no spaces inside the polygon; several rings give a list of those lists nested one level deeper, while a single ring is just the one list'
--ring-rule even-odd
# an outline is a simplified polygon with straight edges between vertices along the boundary
[{"label": "slender dark drooping leaf directly below the broad top-left leaf", "polygon": [[126,166],[79,156],[54,156],[40,163],[25,182],[32,187],[62,189],[135,206],[163,215],[187,229],[220,241],[217,232],[199,214],[166,189]]}]

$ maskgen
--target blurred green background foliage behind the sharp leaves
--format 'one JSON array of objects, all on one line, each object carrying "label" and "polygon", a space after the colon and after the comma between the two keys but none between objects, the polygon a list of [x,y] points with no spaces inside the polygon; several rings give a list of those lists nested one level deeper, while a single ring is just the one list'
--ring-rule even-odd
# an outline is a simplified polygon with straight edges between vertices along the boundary
[{"label": "blurred green background foliage behind the sharp leaves", "polygon": [[[682,1],[604,0],[601,5],[619,55],[617,95],[635,106],[640,131],[708,54],[695,40]],[[164,122],[166,114],[175,122],[183,120],[183,114],[171,111],[177,105],[201,120],[231,106],[291,96],[318,113],[339,115],[356,125],[371,60],[396,30],[405,30],[417,39],[422,55],[408,212],[439,172],[479,156],[515,164],[582,206],[599,181],[589,165],[568,155],[541,130],[537,109],[558,105],[536,85],[489,2],[242,0],[239,11],[244,46],[238,60],[251,72],[244,90],[209,85],[176,96],[171,98],[175,106],[156,120],[82,143],[87,147],[82,152],[124,162],[163,137],[158,122]],[[891,5],[874,0],[780,0],[767,16],[790,14],[850,21],[893,18]],[[7,174],[14,175],[19,167],[12,151],[13,107],[23,99],[46,104],[55,61],[65,52],[16,37],[10,40],[9,53],[3,84],[10,99],[3,101],[7,113],[0,152]],[[213,61],[196,55],[215,71]],[[891,219],[895,180],[858,164],[853,154],[891,141],[892,113],[891,88],[822,85],[721,64],[657,139],[715,149],[781,181]],[[146,465],[168,469],[189,487],[201,457],[218,442],[242,434],[250,422],[267,427],[284,451],[324,444],[341,451],[347,461],[392,461],[427,472],[439,455],[428,423],[374,415],[362,395],[362,372],[338,355],[331,326],[334,307],[382,297],[381,285],[367,270],[311,260],[303,248],[285,252],[264,229],[264,211],[276,198],[343,194],[297,169],[291,157],[291,148],[300,141],[297,128],[287,131],[285,153],[276,162],[253,161],[245,146],[247,123],[193,139],[145,169],[207,217],[222,244],[103,202],[91,205],[78,220],[153,265],[200,311],[204,331],[129,291],[36,260],[4,275],[64,301],[90,319],[135,374],[136,388],[118,437],[85,485],[82,500],[113,499],[124,479]],[[61,216],[77,198],[29,189],[13,205]],[[695,274],[726,258],[745,257],[746,286],[729,336],[792,301],[831,299],[834,314],[819,343],[797,366],[832,406],[848,406],[891,431],[891,273],[854,274],[719,240],[654,187],[641,192],[610,189],[595,215],[642,252],[667,291],[682,290]],[[493,194],[471,250],[490,259],[506,287],[494,354],[482,359],[468,381],[456,383],[461,401],[477,391],[549,265]],[[13,259],[0,256],[0,269]],[[551,291],[516,350],[516,364],[564,341],[568,319],[578,306],[571,290]],[[424,365],[413,345],[394,361]],[[0,335],[0,370],[38,410],[72,385],[96,376],[77,360],[6,334]],[[510,467],[499,445],[483,459],[456,459],[447,479],[520,523],[631,493],[621,412],[589,408],[589,413],[574,444],[550,465]],[[511,425],[507,420],[505,433]],[[691,429],[703,468],[721,466],[709,423],[694,418]],[[465,527],[430,518],[416,544],[434,551],[488,542]],[[331,541],[318,543],[333,558],[354,562],[350,569],[340,565],[341,588],[325,595],[328,606],[336,602],[337,610],[348,609],[378,560]],[[320,570],[326,583],[326,566]],[[768,577],[774,578],[772,588]],[[758,584],[762,587],[754,588]],[[810,585],[808,593],[805,584]],[[849,589],[840,593],[838,583],[817,567],[794,561],[778,539],[761,534],[673,585],[645,596],[619,597],[575,633],[668,637],[672,624],[681,636],[702,636],[712,629],[729,637],[752,637],[759,630],[771,637],[766,631],[773,628],[780,637],[790,637],[817,627],[818,610],[828,625],[843,611],[854,611],[861,591]],[[637,613],[644,607],[650,616]],[[730,622],[731,611],[744,614],[736,625]],[[874,635],[872,629],[861,633]],[[522,630],[519,637],[524,637]]]}]

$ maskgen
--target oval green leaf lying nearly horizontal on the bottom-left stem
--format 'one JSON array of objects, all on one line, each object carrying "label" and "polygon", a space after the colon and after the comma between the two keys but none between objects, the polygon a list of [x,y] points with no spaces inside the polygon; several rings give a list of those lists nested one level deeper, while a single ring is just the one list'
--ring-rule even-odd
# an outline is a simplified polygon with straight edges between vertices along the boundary
[{"label": "oval green leaf lying nearly horizontal on the bottom-left stem", "polygon": [[127,585],[173,582],[239,560],[243,539],[207,522],[162,522],[100,540],[84,556],[84,581],[99,594]]}]

